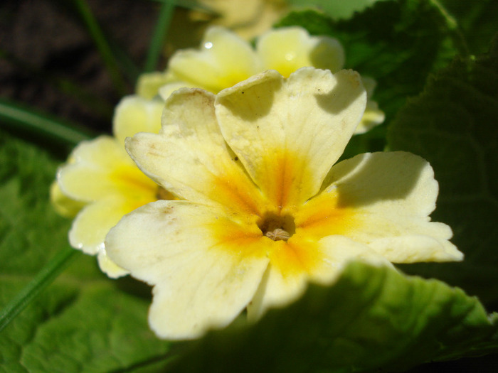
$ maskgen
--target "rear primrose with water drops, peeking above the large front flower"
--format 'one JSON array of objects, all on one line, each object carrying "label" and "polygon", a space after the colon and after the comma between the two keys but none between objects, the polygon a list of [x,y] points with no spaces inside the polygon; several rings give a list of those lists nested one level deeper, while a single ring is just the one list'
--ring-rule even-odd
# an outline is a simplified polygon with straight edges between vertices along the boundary
[{"label": "rear primrose with water drops, peeking above the large front flower", "polygon": [[[305,66],[339,71],[344,66],[344,50],[339,41],[328,36],[309,36],[304,28],[287,27],[264,33],[253,48],[226,28],[211,27],[199,50],[179,50],[169,60],[166,72],[142,75],[137,92],[153,97],[162,86],[159,92],[164,99],[181,87],[218,93],[264,70],[277,70],[288,77]],[[368,85],[367,97],[371,97],[375,81],[369,78]],[[368,131],[384,118],[377,103],[369,99],[355,133]]]}]

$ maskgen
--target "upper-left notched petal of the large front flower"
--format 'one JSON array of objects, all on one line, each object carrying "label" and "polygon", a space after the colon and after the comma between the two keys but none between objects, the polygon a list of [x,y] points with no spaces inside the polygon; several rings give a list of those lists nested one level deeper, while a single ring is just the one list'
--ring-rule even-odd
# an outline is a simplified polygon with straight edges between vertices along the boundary
[{"label": "upper-left notched petal of the large front flower", "polygon": [[144,173],[180,198],[258,214],[265,207],[260,191],[227,148],[213,101],[203,90],[174,92],[161,132],[137,134],[127,149]]}]

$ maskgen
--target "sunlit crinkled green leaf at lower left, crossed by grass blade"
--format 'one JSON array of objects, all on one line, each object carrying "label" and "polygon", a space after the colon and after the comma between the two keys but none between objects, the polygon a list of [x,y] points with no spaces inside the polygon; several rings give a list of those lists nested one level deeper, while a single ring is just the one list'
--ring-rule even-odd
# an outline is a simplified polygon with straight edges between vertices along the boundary
[{"label": "sunlit crinkled green leaf at lower left, crossed by grass blade", "polygon": [[[48,202],[60,161],[0,133],[0,306],[68,246],[70,222]],[[145,296],[131,279],[110,281],[95,258],[78,255],[0,333],[0,372],[147,372],[168,344],[147,326]],[[139,370],[145,369],[145,370]],[[152,372],[156,371],[155,369]]]}]

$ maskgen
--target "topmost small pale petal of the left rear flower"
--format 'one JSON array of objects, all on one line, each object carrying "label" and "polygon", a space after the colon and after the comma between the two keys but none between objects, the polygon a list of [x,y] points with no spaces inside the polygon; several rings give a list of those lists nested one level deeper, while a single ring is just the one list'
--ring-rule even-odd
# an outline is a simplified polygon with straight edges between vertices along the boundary
[{"label": "topmost small pale petal of the left rear flower", "polygon": [[120,144],[138,132],[157,134],[161,129],[164,101],[160,98],[144,99],[134,95],[124,97],[115,109],[112,132]]}]

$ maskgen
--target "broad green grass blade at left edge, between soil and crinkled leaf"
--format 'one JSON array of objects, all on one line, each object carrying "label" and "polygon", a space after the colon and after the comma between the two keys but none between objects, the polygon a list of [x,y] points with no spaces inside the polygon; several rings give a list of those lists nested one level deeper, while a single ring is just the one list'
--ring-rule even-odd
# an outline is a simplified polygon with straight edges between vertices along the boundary
[{"label": "broad green grass blade at left edge, between soil and crinkled leaf", "polygon": [[41,136],[68,146],[94,137],[88,130],[6,99],[0,99],[0,122],[7,129]]}]

